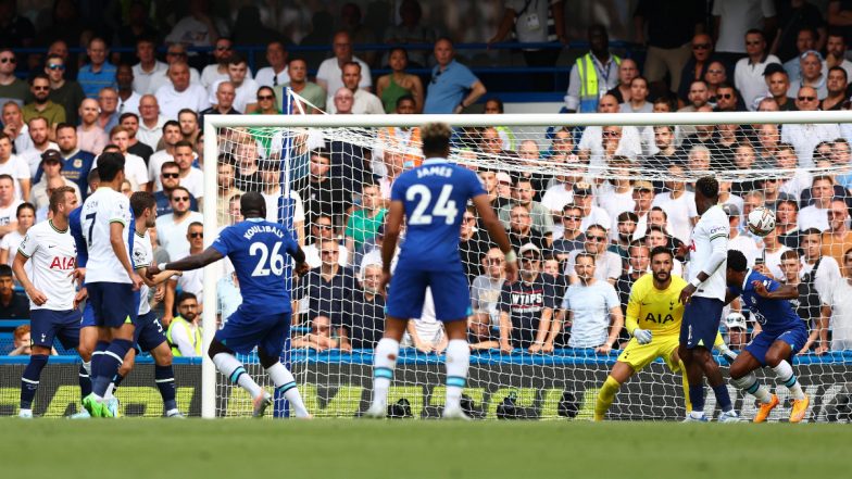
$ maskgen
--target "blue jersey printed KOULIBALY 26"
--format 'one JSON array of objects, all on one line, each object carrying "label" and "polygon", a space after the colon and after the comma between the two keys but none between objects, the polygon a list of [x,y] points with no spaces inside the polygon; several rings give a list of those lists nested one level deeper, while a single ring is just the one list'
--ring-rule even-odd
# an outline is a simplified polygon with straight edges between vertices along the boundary
[{"label": "blue jersey printed KOULIBALY 26", "polygon": [[285,269],[299,248],[284,226],[250,218],[223,229],[212,248],[230,259],[239,280],[242,306],[264,313],[289,313]]}]

